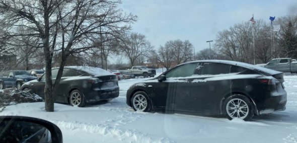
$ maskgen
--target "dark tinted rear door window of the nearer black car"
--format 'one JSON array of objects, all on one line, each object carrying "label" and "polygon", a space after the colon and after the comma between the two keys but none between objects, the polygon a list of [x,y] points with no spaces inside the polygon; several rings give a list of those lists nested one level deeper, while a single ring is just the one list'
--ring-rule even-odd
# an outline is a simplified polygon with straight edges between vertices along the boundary
[{"label": "dark tinted rear door window of the nearer black car", "polygon": [[200,75],[229,74],[231,65],[221,63],[203,63]]}]

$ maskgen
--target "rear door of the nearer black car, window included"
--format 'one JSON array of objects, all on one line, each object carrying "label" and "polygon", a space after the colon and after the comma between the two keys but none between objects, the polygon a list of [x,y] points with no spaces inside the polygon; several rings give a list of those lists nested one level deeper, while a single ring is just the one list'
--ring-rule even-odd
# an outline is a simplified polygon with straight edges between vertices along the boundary
[{"label": "rear door of the nearer black car, window included", "polygon": [[231,87],[229,75],[231,65],[222,63],[200,63],[192,81],[192,106],[196,112],[215,113],[220,105],[221,96]]}]

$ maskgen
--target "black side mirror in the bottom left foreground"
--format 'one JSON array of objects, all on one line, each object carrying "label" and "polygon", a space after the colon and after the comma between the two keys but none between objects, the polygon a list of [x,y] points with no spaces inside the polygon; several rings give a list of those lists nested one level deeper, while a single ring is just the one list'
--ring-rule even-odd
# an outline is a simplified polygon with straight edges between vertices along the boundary
[{"label": "black side mirror in the bottom left foreground", "polygon": [[32,117],[0,116],[0,142],[63,142],[53,123]]}]

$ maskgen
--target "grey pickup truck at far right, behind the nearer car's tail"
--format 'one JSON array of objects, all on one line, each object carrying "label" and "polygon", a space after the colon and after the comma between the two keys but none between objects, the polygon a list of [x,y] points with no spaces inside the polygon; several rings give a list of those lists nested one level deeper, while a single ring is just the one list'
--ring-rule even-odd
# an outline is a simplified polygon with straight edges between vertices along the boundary
[{"label": "grey pickup truck at far right, behind the nearer car's tail", "polygon": [[261,64],[266,68],[277,70],[284,73],[297,73],[297,62],[291,58],[274,58],[266,64]]}]

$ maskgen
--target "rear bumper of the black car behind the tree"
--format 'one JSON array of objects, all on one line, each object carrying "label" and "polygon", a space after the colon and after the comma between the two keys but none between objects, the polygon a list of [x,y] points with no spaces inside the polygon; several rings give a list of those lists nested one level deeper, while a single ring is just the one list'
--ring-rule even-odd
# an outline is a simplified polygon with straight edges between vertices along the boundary
[{"label": "rear bumper of the black car behind the tree", "polygon": [[119,97],[119,88],[84,93],[86,103],[98,102]]}]

